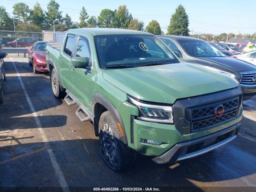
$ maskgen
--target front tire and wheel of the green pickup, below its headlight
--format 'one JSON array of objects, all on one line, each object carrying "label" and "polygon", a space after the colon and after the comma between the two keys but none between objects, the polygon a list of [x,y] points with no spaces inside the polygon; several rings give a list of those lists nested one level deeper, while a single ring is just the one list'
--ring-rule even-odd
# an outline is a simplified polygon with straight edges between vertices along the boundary
[{"label": "front tire and wheel of the green pickup, below its headlight", "polygon": [[100,116],[100,154],[108,166],[118,172],[128,168],[136,153],[124,145],[118,124],[109,111]]}]

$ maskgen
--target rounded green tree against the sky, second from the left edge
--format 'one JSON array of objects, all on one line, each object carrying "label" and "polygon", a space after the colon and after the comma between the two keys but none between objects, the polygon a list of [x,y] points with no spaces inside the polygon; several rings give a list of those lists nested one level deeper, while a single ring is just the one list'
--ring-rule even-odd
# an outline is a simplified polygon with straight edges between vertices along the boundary
[{"label": "rounded green tree against the sky, second from the left edge", "polygon": [[23,20],[24,23],[28,22],[29,7],[25,3],[14,4],[12,14],[17,20]]}]

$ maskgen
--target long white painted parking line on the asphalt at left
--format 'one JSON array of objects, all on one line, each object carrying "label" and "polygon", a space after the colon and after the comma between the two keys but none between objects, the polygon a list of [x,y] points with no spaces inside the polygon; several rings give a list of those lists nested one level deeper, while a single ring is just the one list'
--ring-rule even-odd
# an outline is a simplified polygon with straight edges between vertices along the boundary
[{"label": "long white painted parking line on the asphalt at left", "polygon": [[62,170],[60,169],[60,166],[59,166],[59,164],[58,164],[58,162],[57,162],[57,160],[56,160],[56,158],[54,156],[52,148],[50,147],[50,144],[48,143],[48,140],[46,138],[46,134],[45,134],[44,130],[42,129],[42,125],[41,125],[41,122],[40,122],[40,120],[38,118],[36,110],[35,110],[32,102],[31,102],[31,100],[30,100],[30,98],[28,96],[28,93],[27,93],[26,88],[25,88],[25,86],[23,84],[22,78],[21,78],[21,76],[20,76],[20,74],[19,74],[19,72],[18,72],[18,70],[17,70],[17,68],[15,66],[15,62],[14,62],[14,60],[12,58],[10,58],[10,60],[12,61],[12,64],[13,64],[13,67],[14,67],[14,69],[16,71],[17,76],[19,77],[18,80],[20,81],[20,85],[21,85],[22,90],[23,90],[23,92],[24,92],[24,94],[26,96],[26,100],[27,100],[28,105],[29,105],[29,107],[30,107],[30,109],[32,111],[32,114],[33,114],[34,118],[35,118],[36,124],[38,125],[38,130],[39,130],[39,132],[40,132],[40,134],[42,136],[43,142],[45,142],[45,144],[46,144],[46,149],[48,151],[50,160],[52,162],[52,166],[54,167],[56,176],[58,177],[58,180],[60,182],[60,186],[62,187],[62,190],[64,192],[70,192],[70,190],[68,188],[68,184],[66,182],[66,179],[65,179],[65,177],[64,177],[64,175],[62,173]]}]

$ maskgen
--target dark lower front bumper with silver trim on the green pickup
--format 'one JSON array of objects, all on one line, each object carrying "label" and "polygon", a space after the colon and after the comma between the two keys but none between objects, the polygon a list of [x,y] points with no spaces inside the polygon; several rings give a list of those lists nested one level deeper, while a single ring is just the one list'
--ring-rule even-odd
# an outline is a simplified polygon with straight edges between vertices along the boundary
[{"label": "dark lower front bumper with silver trim on the green pickup", "polygon": [[152,160],[154,160],[156,163],[162,164],[167,162],[175,162],[176,160],[184,160],[204,154],[236,138],[240,125],[241,122],[238,122],[237,124],[214,134],[176,144],[170,150],[161,156],[153,158]]}]

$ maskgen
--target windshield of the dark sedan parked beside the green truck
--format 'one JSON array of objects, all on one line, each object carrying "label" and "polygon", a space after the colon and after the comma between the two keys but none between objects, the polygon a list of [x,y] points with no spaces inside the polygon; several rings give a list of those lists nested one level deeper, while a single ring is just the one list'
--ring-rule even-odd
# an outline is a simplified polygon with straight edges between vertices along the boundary
[{"label": "windshield of the dark sedan parked beside the green truck", "polygon": [[178,40],[186,52],[195,57],[226,57],[215,47],[202,40]]}]

